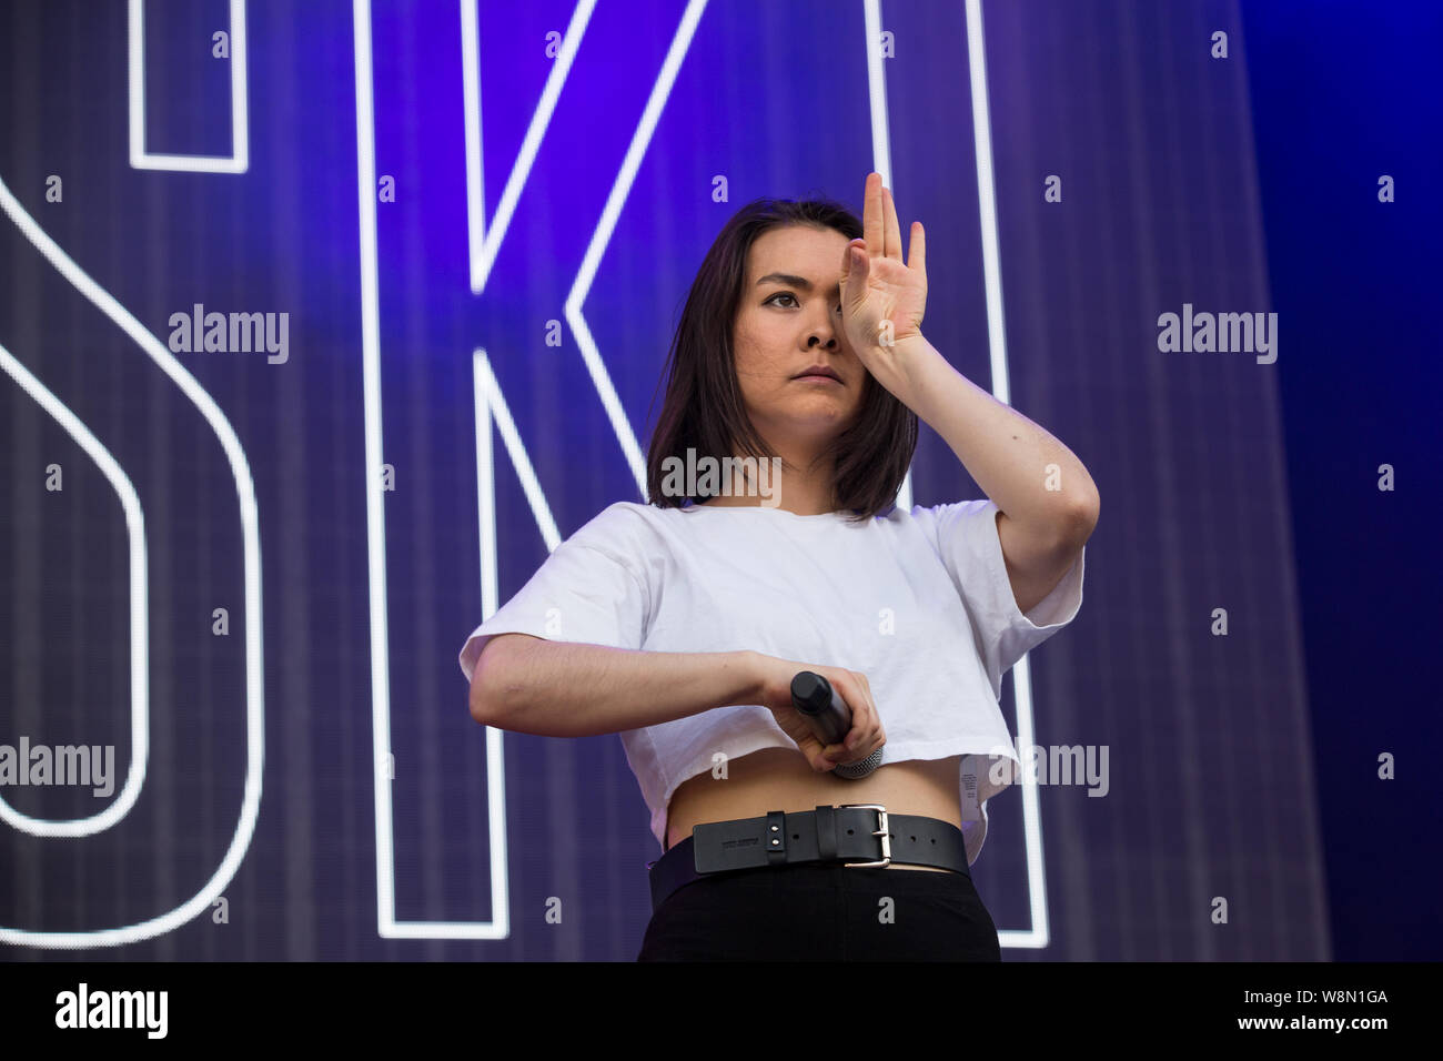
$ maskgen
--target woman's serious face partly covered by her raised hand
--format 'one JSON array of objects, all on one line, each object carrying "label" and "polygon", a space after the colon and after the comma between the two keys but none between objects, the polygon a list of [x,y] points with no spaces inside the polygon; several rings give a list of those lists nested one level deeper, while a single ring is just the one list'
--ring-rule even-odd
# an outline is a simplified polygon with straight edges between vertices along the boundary
[{"label": "woman's serious face partly covered by her raised hand", "polygon": [[[869,372],[841,332],[837,280],[850,240],[786,225],[752,243],[733,331],[736,377],[756,430],[798,458],[824,447],[861,410]],[[827,365],[840,381],[798,378]]]}]

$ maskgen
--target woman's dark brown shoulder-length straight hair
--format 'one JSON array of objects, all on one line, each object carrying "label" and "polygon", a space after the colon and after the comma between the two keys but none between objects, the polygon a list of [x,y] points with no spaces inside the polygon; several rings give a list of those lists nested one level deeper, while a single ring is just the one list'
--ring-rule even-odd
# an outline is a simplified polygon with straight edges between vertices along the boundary
[{"label": "woman's dark brown shoulder-length straight hair", "polygon": [[[691,293],[672,336],[667,365],[667,396],[646,453],[646,492],[651,504],[681,508],[684,497],[662,491],[664,462],[778,456],[758,435],[746,413],[736,378],[733,325],[746,284],[746,260],[762,232],[785,225],[834,228],[848,240],[861,237],[861,222],[831,199],[756,199],[742,206],[717,234],[691,283]],[[863,372],[861,409],[835,443],[834,491],[838,508],[854,521],[873,518],[895,504],[916,450],[916,413]],[[655,401],[655,398],[654,398]],[[722,465],[724,466],[724,465]],[[724,486],[724,484],[723,484]]]}]

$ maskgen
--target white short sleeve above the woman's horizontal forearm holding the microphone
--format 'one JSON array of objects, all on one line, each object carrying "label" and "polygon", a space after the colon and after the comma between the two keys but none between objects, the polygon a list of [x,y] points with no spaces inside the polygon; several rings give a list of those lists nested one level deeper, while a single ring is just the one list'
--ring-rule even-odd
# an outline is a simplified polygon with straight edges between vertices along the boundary
[{"label": "white short sleeve above the woman's horizontal forearm holding the microphone", "polygon": [[530,634],[608,648],[641,648],[646,638],[646,588],[625,557],[595,536],[557,546],[514,598],[482,622],[460,650],[472,680],[476,660],[498,634]]}]

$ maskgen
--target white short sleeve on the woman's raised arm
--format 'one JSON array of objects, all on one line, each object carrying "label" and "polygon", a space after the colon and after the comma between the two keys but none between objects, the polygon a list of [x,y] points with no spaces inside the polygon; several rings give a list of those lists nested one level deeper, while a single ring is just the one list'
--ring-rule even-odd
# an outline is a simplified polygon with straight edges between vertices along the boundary
[{"label": "white short sleeve on the woman's raised arm", "polygon": [[1087,547],[1056,586],[1030,612],[1017,608],[997,536],[997,504],[990,498],[958,501],[931,510],[937,550],[962,598],[987,668],[993,696],[1001,699],[1001,677],[1013,664],[1066,626],[1082,606]]}]

